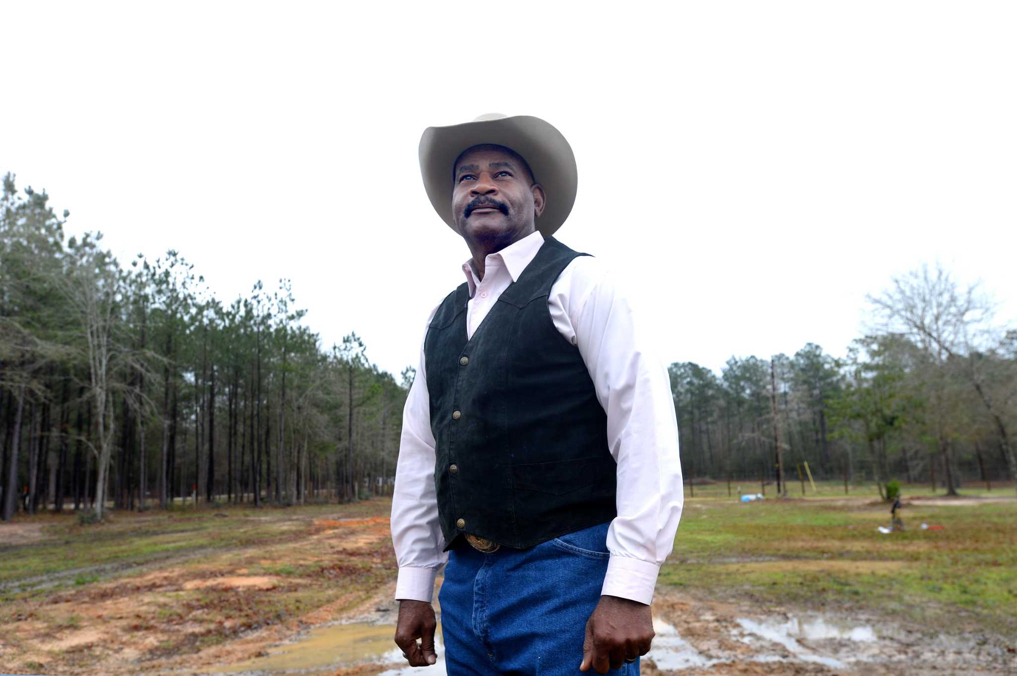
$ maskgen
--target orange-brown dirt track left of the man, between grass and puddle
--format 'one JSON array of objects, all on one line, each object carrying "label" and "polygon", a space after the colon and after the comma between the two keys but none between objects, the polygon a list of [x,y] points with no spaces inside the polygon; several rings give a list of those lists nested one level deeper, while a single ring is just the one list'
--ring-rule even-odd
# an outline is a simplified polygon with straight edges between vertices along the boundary
[{"label": "orange-brown dirt track left of the man, between grass and puddle", "polygon": [[0,671],[197,673],[341,620],[394,577],[386,516],[298,521],[276,545],[89,566],[132,574],[5,604]]}]

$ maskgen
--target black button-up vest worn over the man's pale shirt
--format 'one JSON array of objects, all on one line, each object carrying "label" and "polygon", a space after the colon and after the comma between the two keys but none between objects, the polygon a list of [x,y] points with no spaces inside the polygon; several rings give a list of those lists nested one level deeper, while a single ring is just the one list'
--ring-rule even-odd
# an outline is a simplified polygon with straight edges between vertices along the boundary
[{"label": "black button-up vest worn over the man's pale shirt", "polygon": [[532,547],[615,516],[607,416],[547,307],[577,256],[585,254],[549,238],[472,339],[466,283],[427,330],[434,484],[448,548],[462,533]]}]

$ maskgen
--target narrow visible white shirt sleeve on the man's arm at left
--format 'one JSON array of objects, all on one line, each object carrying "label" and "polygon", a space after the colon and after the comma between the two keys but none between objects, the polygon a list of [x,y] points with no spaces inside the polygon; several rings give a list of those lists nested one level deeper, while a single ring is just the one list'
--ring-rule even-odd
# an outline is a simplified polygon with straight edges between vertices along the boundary
[{"label": "narrow visible white shirt sleeve on the man's arm at left", "polygon": [[[436,310],[431,312],[428,324]],[[403,409],[403,433],[392,498],[392,542],[399,563],[396,598],[430,603],[434,578],[448,555],[442,551],[445,542],[438,525],[434,435],[424,367],[421,344],[420,367]]]}]

